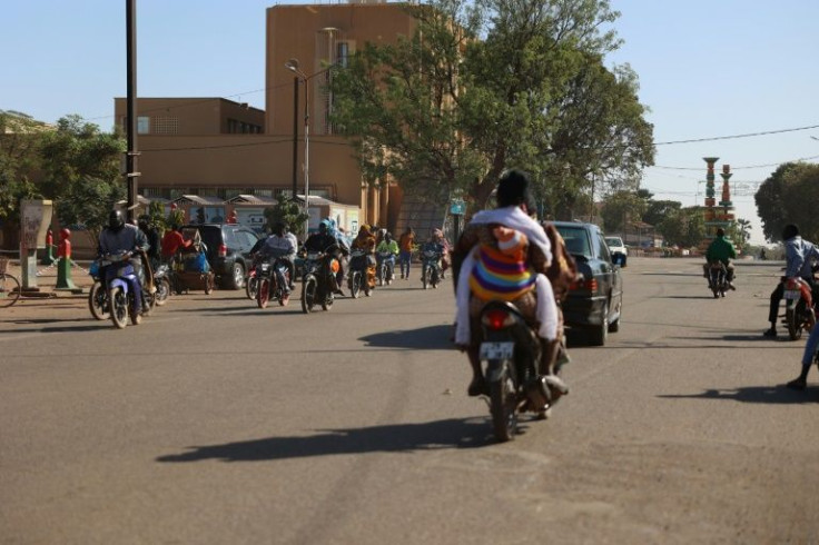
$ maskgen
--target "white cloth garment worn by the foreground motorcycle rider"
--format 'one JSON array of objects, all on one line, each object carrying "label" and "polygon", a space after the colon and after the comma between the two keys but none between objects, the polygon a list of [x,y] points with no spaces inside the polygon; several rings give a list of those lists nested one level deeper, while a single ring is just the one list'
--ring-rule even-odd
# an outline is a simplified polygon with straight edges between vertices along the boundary
[{"label": "white cloth garment worn by the foreground motorcycle rider", "polygon": [[[501,224],[523,232],[526,235],[530,244],[534,244],[541,249],[546,258],[546,262],[552,262],[552,245],[549,241],[546,231],[543,230],[543,227],[537,221],[529,217],[519,207],[480,211],[470,221],[470,225],[475,224]],[[457,306],[455,314],[455,344],[460,346],[468,345],[472,338],[470,331],[470,277],[475,266],[476,250],[477,245],[470,250],[461,265],[461,272],[458,274],[455,290]],[[557,337],[557,304],[554,300],[552,284],[545,275],[539,274],[535,277],[535,290],[537,294],[535,317],[540,323],[537,335],[544,339],[552,340]]]}]

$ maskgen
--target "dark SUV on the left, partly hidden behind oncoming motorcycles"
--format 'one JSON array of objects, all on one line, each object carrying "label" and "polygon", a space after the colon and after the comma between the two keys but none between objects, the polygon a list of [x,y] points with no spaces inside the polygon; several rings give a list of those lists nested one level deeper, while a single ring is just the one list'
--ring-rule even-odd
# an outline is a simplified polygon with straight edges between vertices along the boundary
[{"label": "dark SUV on the left, partly hidden behind oncoming motorcycles", "polygon": [[236,224],[191,224],[185,228],[199,229],[207,247],[210,268],[220,286],[241,289],[250,267],[250,249],[259,237],[253,229]]}]

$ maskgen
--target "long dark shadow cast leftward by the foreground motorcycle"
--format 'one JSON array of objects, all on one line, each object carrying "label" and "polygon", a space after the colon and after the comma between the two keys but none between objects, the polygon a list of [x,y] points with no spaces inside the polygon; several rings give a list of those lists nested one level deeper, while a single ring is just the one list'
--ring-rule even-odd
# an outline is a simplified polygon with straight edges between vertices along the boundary
[{"label": "long dark shadow cast leftward by the foreground motorcycle", "polygon": [[451,418],[423,424],[394,424],[351,429],[323,429],[308,437],[266,437],[221,445],[188,447],[157,462],[263,462],[337,454],[412,453],[476,448],[493,443],[484,419]]}]

